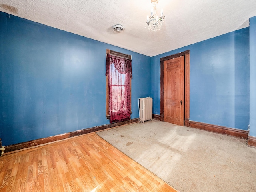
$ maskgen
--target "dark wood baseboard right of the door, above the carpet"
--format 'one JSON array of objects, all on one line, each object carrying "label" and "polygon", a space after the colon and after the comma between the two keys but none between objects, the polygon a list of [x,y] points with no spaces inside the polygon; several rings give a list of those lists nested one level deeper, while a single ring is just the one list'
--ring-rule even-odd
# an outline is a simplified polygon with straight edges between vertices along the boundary
[{"label": "dark wood baseboard right of the door, above the carpet", "polygon": [[221,133],[225,135],[235,136],[243,139],[248,138],[248,131],[241,129],[233,129],[224,126],[212,125],[196,121],[190,121],[189,126],[192,128],[202,129],[210,132]]}]

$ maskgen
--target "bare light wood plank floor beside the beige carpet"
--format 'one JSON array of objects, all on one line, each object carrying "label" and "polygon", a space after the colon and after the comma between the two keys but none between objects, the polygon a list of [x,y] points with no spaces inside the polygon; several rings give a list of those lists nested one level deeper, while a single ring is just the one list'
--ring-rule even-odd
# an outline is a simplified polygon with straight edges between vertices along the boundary
[{"label": "bare light wood plank floor beside the beige carpet", "polygon": [[0,192],[176,192],[96,134],[4,154]]}]

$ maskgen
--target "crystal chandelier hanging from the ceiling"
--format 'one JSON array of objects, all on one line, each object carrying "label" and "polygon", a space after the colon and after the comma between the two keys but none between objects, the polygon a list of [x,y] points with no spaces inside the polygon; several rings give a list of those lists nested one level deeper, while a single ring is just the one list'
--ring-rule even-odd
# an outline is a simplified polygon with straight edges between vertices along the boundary
[{"label": "crystal chandelier hanging from the ceiling", "polygon": [[160,28],[163,26],[164,18],[163,15],[164,12],[161,10],[161,16],[158,17],[156,14],[156,4],[158,0],[151,0],[151,3],[153,3],[153,8],[151,9],[151,15],[147,16],[147,22],[146,22],[146,28],[149,29],[149,31],[157,31],[160,30]]}]

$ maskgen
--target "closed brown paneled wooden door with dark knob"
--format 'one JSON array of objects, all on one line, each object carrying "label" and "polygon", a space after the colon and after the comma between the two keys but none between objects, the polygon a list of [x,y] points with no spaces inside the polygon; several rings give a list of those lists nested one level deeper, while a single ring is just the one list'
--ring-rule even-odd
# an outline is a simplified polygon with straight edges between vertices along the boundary
[{"label": "closed brown paneled wooden door with dark knob", "polygon": [[164,121],[184,126],[184,56],[164,61]]}]

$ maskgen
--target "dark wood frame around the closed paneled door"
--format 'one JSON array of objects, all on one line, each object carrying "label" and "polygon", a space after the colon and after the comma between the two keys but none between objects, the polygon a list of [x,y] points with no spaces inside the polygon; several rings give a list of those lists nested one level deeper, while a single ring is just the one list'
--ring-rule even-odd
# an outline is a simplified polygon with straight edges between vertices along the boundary
[{"label": "dark wood frame around the closed paneled door", "polygon": [[185,114],[184,114],[184,125],[189,126],[189,82],[190,82],[190,62],[189,62],[189,57],[190,57],[190,52],[189,50],[186,50],[184,52],[180,52],[177,54],[173,54],[170,56],[162,57],[160,58],[160,120],[164,121],[164,61],[184,56],[184,95],[185,95]]}]

